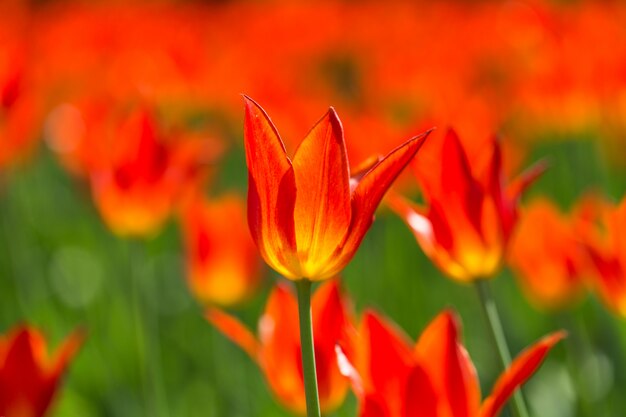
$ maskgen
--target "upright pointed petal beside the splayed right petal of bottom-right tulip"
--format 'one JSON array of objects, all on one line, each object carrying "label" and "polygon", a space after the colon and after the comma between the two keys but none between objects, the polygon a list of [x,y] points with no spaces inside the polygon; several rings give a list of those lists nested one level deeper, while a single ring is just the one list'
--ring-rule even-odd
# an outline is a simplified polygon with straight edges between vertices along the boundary
[{"label": "upright pointed petal beside the splayed right petal of bottom-right tulip", "polygon": [[456,316],[445,311],[424,330],[415,352],[449,415],[474,417],[480,405],[480,387],[459,333]]}]

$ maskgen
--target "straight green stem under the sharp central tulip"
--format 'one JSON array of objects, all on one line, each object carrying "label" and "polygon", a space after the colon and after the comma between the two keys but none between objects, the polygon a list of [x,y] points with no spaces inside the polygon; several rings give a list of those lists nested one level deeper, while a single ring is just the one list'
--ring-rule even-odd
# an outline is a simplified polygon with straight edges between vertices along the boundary
[{"label": "straight green stem under the sharp central tulip", "polygon": [[320,417],[320,401],[317,391],[315,349],[313,344],[313,321],[311,319],[311,284],[308,279],[296,282],[298,289],[298,316],[300,318],[300,349],[308,417]]}]

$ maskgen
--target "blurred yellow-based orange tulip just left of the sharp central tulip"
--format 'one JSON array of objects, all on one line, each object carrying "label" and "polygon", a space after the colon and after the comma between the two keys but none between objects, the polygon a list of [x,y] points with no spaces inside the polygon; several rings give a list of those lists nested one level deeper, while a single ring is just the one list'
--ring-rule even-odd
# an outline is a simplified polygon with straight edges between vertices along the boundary
[{"label": "blurred yellow-based orange tulip just left of the sharp central tulip", "polygon": [[187,281],[203,303],[232,305],[256,289],[261,260],[246,224],[245,202],[236,195],[198,200],[185,209]]}]

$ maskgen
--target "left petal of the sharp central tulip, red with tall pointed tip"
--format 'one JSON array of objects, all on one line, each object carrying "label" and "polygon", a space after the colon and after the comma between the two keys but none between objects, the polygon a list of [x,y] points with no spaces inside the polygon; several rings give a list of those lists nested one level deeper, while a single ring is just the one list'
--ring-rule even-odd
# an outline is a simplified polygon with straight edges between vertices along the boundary
[{"label": "left petal of the sharp central tulip, red with tall pointed tip", "polygon": [[267,113],[249,97],[244,98],[250,233],[272,268],[288,278],[300,278],[293,221],[293,167]]}]

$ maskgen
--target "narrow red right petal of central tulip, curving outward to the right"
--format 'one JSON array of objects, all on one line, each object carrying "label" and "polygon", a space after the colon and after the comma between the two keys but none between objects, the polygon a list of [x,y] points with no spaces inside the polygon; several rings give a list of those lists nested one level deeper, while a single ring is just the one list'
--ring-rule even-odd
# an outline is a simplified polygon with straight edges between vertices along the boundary
[{"label": "narrow red right petal of central tulip, curving outward to the right", "polygon": [[372,225],[374,212],[393,181],[411,162],[432,130],[418,135],[400,145],[370,169],[356,186],[352,195],[350,231],[340,247],[337,260],[327,275],[334,275],[354,256],[365,232]]}]

